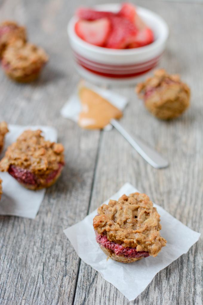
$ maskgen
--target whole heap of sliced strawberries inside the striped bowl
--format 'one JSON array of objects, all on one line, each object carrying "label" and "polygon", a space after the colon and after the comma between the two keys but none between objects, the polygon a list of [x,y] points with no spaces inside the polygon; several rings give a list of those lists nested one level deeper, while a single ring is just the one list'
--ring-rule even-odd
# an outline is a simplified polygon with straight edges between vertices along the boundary
[{"label": "whole heap of sliced strawberries inside the striped bowl", "polygon": [[76,34],[84,41],[111,49],[138,48],[154,41],[152,30],[138,15],[135,5],[123,3],[117,12],[79,8]]}]

